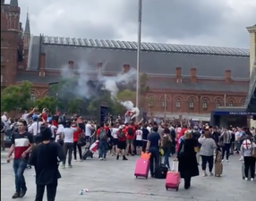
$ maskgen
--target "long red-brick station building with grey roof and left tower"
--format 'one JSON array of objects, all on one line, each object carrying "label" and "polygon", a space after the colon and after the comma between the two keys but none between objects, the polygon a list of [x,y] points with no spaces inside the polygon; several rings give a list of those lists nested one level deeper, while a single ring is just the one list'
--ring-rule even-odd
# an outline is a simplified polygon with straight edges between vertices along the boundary
[{"label": "long red-brick station building with grey roof and left tower", "polygon": [[[32,36],[29,16],[23,30],[20,12],[18,0],[1,0],[1,87],[29,80],[40,97],[64,66],[91,80],[98,68],[115,75],[136,66],[135,42]],[[206,118],[218,106],[244,105],[249,66],[248,49],[141,43],[141,72],[149,77],[157,116],[166,108],[166,116]]]}]

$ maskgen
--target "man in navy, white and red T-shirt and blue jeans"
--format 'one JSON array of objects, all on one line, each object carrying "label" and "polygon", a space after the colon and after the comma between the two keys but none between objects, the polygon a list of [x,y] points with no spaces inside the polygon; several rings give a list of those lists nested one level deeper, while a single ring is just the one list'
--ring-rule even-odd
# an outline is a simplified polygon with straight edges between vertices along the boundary
[{"label": "man in navy, white and red T-shirt and blue jeans", "polygon": [[28,164],[30,150],[33,147],[33,136],[27,132],[27,121],[20,120],[18,124],[18,133],[12,135],[12,147],[9,150],[7,163],[10,163],[10,157],[14,152],[13,170],[15,174],[16,192],[14,198],[24,197],[27,192],[24,171]]}]

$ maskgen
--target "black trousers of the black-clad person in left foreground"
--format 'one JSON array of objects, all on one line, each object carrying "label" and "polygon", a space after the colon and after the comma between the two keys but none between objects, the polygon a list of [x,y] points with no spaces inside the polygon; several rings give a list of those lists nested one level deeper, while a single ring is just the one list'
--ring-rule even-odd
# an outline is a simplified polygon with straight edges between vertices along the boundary
[{"label": "black trousers of the black-clad person in left foreground", "polygon": [[58,186],[57,181],[47,185],[37,184],[37,195],[36,195],[35,201],[43,201],[46,187],[47,187],[47,201],[55,201],[57,186]]}]

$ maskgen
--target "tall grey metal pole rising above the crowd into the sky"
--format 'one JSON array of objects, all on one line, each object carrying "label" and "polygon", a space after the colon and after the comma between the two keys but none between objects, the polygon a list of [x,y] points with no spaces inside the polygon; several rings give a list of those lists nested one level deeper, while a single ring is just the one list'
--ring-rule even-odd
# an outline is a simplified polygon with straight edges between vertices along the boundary
[{"label": "tall grey metal pole rising above the crowd into the sky", "polygon": [[[142,19],[142,0],[138,5],[138,41],[137,41],[137,82],[136,82],[136,107],[139,108],[140,96],[140,64],[141,64],[141,19]],[[139,121],[136,117],[136,121]]]}]

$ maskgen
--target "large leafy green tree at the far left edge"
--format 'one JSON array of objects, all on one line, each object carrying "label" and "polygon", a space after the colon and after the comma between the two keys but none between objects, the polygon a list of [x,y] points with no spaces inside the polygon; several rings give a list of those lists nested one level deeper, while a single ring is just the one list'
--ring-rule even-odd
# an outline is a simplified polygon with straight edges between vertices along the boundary
[{"label": "large leafy green tree at the far left edge", "polygon": [[29,81],[22,81],[20,85],[11,85],[1,90],[1,112],[28,109],[31,88]]}]

